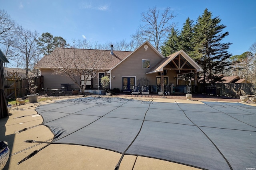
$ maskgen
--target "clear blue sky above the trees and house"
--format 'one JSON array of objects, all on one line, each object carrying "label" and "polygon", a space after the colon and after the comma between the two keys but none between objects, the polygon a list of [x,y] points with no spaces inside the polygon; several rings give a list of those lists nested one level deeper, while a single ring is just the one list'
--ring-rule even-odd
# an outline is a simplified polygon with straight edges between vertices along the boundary
[{"label": "clear blue sky above the trees and house", "polygon": [[156,6],[160,11],[170,7],[178,29],[189,17],[196,20],[208,8],[213,17],[219,16],[229,35],[223,43],[233,43],[229,52],[240,55],[256,42],[255,0],[2,0],[12,20],[25,29],[40,34],[51,33],[71,43],[84,39],[94,43],[130,41],[140,24],[141,13]]}]

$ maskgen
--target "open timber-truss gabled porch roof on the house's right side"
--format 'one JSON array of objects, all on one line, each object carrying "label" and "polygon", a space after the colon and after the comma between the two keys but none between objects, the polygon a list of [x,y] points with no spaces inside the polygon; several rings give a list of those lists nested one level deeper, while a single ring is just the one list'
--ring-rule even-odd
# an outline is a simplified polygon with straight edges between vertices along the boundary
[{"label": "open timber-truss gabled porch roof on the house's right side", "polygon": [[[182,57],[182,62],[180,61],[174,61],[176,57],[181,55]],[[180,60],[180,58],[179,58]],[[177,63],[178,62],[178,63]],[[157,63],[155,66],[153,66],[146,74],[152,74],[155,72],[160,72],[164,70],[164,67],[170,64],[170,67],[176,69],[176,70],[181,70],[181,69],[196,69],[197,72],[202,72],[203,69],[196,64],[196,62],[191,59],[183,50],[177,51],[176,53],[173,53],[172,55],[169,55],[162,59],[159,63]]]}]

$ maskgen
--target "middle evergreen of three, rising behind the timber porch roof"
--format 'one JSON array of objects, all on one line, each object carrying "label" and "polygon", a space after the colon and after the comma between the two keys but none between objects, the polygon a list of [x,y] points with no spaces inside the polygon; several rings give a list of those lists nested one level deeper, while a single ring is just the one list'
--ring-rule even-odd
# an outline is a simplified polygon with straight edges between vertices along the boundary
[{"label": "middle evergreen of three, rising behind the timber porch roof", "polygon": [[193,20],[187,18],[186,22],[183,24],[183,28],[180,32],[180,43],[179,49],[184,50],[190,57],[193,57],[193,43],[191,43],[193,32],[194,32],[194,25]]}]

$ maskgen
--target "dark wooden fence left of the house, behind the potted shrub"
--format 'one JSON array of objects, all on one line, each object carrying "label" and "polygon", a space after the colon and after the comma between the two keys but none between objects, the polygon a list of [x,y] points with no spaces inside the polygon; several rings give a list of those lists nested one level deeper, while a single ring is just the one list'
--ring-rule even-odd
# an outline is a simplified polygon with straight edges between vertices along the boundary
[{"label": "dark wooden fence left of the house, behind the potted shrub", "polygon": [[[35,77],[35,84],[38,86],[36,89],[36,93],[44,87],[44,76]],[[23,97],[29,94],[28,91],[28,80],[23,78],[20,80],[5,80],[4,91],[6,94],[6,98],[15,98],[15,90],[16,96]]]}]

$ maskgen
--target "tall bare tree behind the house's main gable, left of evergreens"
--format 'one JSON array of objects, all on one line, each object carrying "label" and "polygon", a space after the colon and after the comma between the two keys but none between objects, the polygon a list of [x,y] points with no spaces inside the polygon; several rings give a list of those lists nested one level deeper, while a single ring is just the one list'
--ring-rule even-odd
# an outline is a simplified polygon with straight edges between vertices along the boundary
[{"label": "tall bare tree behind the house's main gable, left of evergreens", "polygon": [[171,22],[175,18],[174,12],[168,7],[160,14],[160,11],[155,6],[154,8],[149,8],[147,12],[142,12],[141,16],[141,21],[144,24],[139,26],[136,33],[131,36],[132,39],[138,45],[148,40],[159,50],[164,41],[166,41],[171,28],[176,26],[176,23]]}]

